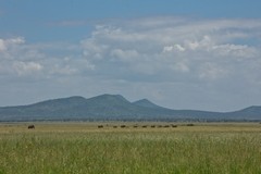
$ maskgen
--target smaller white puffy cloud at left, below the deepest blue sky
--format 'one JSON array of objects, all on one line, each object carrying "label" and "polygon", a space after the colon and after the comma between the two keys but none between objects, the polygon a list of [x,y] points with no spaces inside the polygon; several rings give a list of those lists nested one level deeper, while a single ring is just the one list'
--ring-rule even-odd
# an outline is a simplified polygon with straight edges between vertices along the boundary
[{"label": "smaller white puffy cloud at left, below the deepest blue sky", "polygon": [[95,64],[85,59],[82,52],[77,52],[78,50],[82,50],[79,45],[30,45],[25,42],[23,37],[0,39],[0,75],[49,79],[94,71]]}]

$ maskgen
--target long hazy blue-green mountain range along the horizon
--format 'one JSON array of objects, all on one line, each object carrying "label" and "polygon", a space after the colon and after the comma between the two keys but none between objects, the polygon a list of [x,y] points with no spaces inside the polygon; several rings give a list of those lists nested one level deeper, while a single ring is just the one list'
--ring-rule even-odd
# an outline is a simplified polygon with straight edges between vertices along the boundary
[{"label": "long hazy blue-green mountain range along the horizon", "polygon": [[74,96],[28,105],[1,107],[4,121],[260,121],[261,107],[234,112],[172,110],[148,99],[129,102],[121,95],[89,99]]}]

